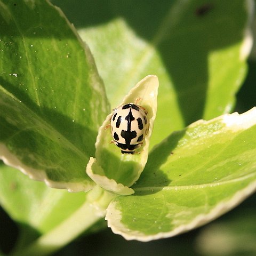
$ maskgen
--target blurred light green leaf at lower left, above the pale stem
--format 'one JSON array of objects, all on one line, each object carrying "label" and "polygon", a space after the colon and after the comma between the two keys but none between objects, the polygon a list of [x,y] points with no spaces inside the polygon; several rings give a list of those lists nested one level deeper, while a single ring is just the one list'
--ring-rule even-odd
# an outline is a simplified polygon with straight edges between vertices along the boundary
[{"label": "blurred light green leaf at lower left, above the pale stem", "polygon": [[1,205],[12,219],[29,223],[38,233],[57,226],[86,200],[85,193],[49,188],[9,166],[1,166],[0,181]]}]

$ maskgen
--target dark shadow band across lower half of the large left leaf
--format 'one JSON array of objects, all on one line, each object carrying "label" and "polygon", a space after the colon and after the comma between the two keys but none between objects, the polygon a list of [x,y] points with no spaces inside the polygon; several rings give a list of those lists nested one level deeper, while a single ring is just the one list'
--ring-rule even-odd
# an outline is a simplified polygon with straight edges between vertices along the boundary
[{"label": "dark shadow band across lower half of the large left leaf", "polygon": [[37,106],[19,87],[2,78],[0,83],[6,91],[23,100],[19,102],[11,95],[1,95],[0,141],[4,141],[23,164],[44,170],[53,181],[88,180],[85,168],[95,153],[97,131],[73,122],[55,109]]}]

